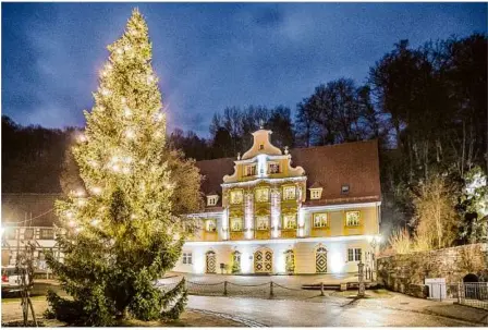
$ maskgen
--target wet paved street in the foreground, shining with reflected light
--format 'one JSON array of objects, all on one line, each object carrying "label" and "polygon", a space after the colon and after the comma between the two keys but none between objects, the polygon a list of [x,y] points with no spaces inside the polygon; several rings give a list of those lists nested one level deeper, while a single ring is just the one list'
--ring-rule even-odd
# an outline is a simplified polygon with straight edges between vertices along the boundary
[{"label": "wet paved street in the foreground, shining with reflected light", "polygon": [[190,296],[188,307],[237,315],[268,327],[474,327],[476,325],[405,310],[242,297]]}]

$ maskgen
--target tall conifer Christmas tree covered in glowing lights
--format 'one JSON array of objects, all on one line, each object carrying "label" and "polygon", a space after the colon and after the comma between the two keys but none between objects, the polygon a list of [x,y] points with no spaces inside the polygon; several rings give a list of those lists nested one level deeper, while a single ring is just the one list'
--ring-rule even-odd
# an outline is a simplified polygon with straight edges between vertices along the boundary
[{"label": "tall conifer Christmas tree covered in glowing lights", "polygon": [[171,173],[179,158],[164,146],[151,44],[137,10],[108,49],[95,106],[85,112],[86,130],[73,147],[84,186],[57,203],[64,258],[48,256],[72,297],[49,292],[48,314],[71,325],[178,318],[186,302],[183,281],[169,292],[155,285],[180,257],[184,236]]}]

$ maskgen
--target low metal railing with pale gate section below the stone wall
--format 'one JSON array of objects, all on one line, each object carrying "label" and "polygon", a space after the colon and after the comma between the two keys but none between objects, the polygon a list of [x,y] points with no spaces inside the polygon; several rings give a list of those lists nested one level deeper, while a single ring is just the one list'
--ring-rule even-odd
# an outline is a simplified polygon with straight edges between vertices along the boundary
[{"label": "low metal railing with pale gate section below the stone wall", "polygon": [[431,283],[429,298],[457,302],[461,305],[488,309],[488,282]]}]

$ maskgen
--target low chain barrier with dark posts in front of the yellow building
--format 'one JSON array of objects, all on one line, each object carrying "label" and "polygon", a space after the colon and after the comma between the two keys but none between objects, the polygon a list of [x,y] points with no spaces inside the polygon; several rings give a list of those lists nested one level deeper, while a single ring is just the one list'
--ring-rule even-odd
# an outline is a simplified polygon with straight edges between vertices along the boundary
[{"label": "low chain barrier with dark posts in front of the yellow building", "polygon": [[[173,289],[178,281],[169,283],[159,283],[161,290],[169,291]],[[245,297],[294,297],[294,298],[312,298],[316,296],[325,296],[324,283],[317,290],[286,286],[273,281],[258,284],[241,284],[231,281],[221,281],[215,283],[186,281],[186,289],[192,295],[211,295],[211,296],[245,296]]]}]

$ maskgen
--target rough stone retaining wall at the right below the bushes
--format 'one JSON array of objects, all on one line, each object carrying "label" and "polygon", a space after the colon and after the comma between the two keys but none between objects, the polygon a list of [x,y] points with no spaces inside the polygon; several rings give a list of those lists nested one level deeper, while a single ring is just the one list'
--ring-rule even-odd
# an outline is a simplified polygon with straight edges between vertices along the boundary
[{"label": "rough stone retaining wall at the right below the bushes", "polygon": [[475,273],[488,281],[488,244],[380,257],[377,266],[379,284],[396,292],[426,297],[425,279],[444,278],[447,283],[456,283],[466,274]]}]

